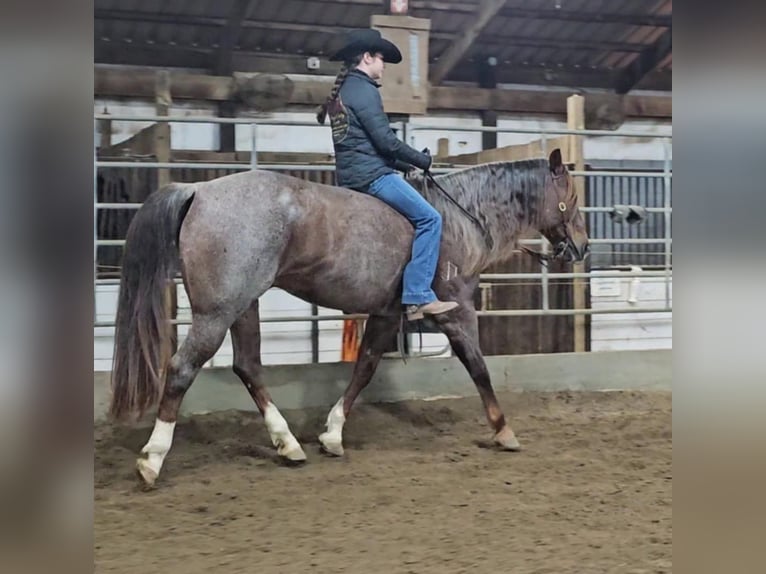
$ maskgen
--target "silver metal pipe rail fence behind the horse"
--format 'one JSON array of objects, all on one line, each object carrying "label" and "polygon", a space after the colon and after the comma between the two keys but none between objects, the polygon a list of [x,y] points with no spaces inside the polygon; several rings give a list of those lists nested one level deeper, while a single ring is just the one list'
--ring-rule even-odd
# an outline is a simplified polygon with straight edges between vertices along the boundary
[{"label": "silver metal pipe rail fence behind the horse", "polygon": [[[129,168],[129,169],[226,169],[226,170],[296,170],[296,171],[334,171],[335,166],[331,164],[258,164],[257,161],[257,130],[258,126],[280,126],[280,127],[312,127],[330,129],[329,126],[314,122],[304,121],[285,121],[261,118],[222,118],[215,116],[155,116],[155,115],[112,115],[112,114],[94,114],[94,121],[112,120],[112,121],[132,121],[132,122],[168,122],[168,123],[202,123],[202,124],[235,124],[250,126],[251,155],[250,162],[157,162],[140,160],[98,160],[94,148],[94,287],[95,285],[115,285],[119,284],[117,279],[99,279],[98,278],[98,247],[100,246],[122,246],[124,239],[99,239],[96,228],[98,212],[100,210],[136,210],[141,207],[141,203],[109,203],[98,202],[96,193],[97,172],[99,168]],[[97,125],[97,124],[96,124]],[[588,171],[570,171],[575,177],[596,178],[603,176],[620,176],[626,178],[662,178],[664,188],[664,203],[662,207],[645,208],[647,213],[658,213],[664,215],[665,233],[664,237],[657,238],[593,238],[593,245],[651,245],[663,244],[664,251],[664,269],[662,271],[596,271],[590,273],[552,273],[543,267],[539,273],[486,273],[480,275],[481,281],[540,281],[542,289],[542,304],[540,309],[508,309],[508,310],[481,310],[479,316],[492,317],[528,317],[528,316],[557,316],[557,315],[605,315],[605,314],[634,314],[634,313],[666,313],[672,312],[670,305],[670,282],[672,279],[671,267],[671,245],[672,237],[670,231],[670,222],[672,214],[671,206],[671,187],[672,170],[670,162],[672,132],[667,134],[650,134],[635,131],[602,131],[602,130],[572,130],[572,129],[541,129],[541,128],[507,128],[497,126],[429,126],[404,123],[403,127],[407,131],[438,131],[438,132],[496,132],[496,133],[518,133],[540,135],[543,143],[547,136],[551,135],[575,135],[591,137],[630,137],[630,138],[651,138],[661,139],[663,142],[664,161],[661,172],[652,171],[629,171],[629,170],[588,170]],[[450,173],[463,167],[439,167],[434,168],[434,173]],[[587,206],[581,208],[584,213],[609,213],[613,210],[606,206]],[[547,249],[547,241],[543,239],[531,239],[520,241],[523,245],[541,245],[542,249]],[[665,279],[665,305],[661,307],[649,308],[607,308],[607,309],[550,309],[548,300],[549,281],[552,279],[594,279],[594,278],[664,278]],[[178,280],[176,280],[178,282]],[[490,283],[492,285],[497,283]],[[484,283],[483,285],[487,285]],[[94,294],[95,296],[95,294]],[[284,322],[318,322],[318,321],[337,321],[345,319],[365,319],[367,315],[363,314],[333,314],[333,315],[306,315],[301,317],[276,316],[261,318],[264,323],[284,323]],[[177,325],[189,324],[190,321],[184,319],[175,319],[172,323]],[[94,317],[94,327],[113,327],[113,321],[96,321]]]}]

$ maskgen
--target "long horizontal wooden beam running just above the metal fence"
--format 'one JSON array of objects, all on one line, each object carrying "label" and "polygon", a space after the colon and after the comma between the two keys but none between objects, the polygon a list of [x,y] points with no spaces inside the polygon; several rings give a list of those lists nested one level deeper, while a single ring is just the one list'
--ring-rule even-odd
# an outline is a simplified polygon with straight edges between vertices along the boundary
[{"label": "long horizontal wooden beam running just above the metal fence", "polygon": [[[235,82],[231,77],[204,74],[171,73],[170,91],[174,99],[221,101],[232,99]],[[290,104],[317,105],[327,97],[332,76],[324,80],[295,80]],[[152,70],[115,70],[96,67],[96,97],[154,98]],[[505,113],[553,114],[565,117],[566,93],[541,90],[505,90],[476,87],[434,86],[428,91],[431,111],[482,111]],[[586,94],[589,101],[608,99],[608,95]],[[626,95],[623,98],[627,117],[672,118],[673,97]]]}]

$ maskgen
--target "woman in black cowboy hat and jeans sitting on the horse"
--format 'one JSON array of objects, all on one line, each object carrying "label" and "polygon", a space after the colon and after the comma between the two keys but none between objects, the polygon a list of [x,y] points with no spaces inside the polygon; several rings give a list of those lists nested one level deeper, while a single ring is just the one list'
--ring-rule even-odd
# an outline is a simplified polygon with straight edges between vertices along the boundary
[{"label": "woman in black cowboy hat and jeans sitting on the horse", "polygon": [[404,268],[402,304],[409,319],[436,315],[458,306],[440,301],[432,290],[441,243],[442,219],[409,183],[396,173],[412,166],[431,167],[422,152],[397,139],[376,82],[386,62],[402,61],[399,49],[375,29],[354,30],[346,45],[330,58],[343,66],[317,120],[332,124],[338,185],[367,193],[404,215],[415,227],[412,256]]}]

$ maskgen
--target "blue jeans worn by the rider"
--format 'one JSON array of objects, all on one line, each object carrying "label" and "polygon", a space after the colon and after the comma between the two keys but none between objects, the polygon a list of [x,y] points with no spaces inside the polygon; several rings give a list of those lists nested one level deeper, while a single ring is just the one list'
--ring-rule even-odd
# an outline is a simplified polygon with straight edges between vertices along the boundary
[{"label": "blue jeans worn by the rider", "polygon": [[397,174],[379,177],[367,192],[404,215],[415,227],[412,257],[404,268],[402,304],[423,305],[436,300],[431,283],[436,273],[442,218],[423,196]]}]

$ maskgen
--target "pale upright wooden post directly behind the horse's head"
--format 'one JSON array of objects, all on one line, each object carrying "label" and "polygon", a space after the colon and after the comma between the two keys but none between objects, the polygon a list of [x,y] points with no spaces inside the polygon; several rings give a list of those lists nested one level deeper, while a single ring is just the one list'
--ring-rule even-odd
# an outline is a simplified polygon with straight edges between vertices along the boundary
[{"label": "pale upright wooden post directly behind the horse's head", "polygon": [[[567,129],[582,130],[585,129],[585,98],[579,95],[569,96],[567,98]],[[569,154],[567,162],[574,164],[574,169],[583,171],[585,169],[585,157],[583,155],[583,136],[570,135]],[[585,185],[583,176],[575,176],[575,191],[580,207],[585,206]],[[575,273],[583,273],[585,266],[582,263],[573,265]],[[585,308],[585,280],[574,279],[573,281],[574,308]],[[574,350],[575,352],[584,352],[587,348],[585,315],[574,316]]]}]

